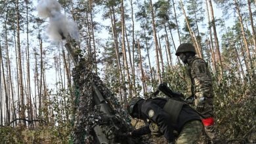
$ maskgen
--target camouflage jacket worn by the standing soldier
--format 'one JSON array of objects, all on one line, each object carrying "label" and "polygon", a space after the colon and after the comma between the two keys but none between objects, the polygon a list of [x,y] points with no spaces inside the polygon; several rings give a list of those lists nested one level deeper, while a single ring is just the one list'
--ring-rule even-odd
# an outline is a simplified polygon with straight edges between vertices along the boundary
[{"label": "camouflage jacket worn by the standing soldier", "polygon": [[196,56],[188,59],[187,77],[189,96],[213,97],[213,86],[211,81],[211,73],[207,67],[207,63]]}]

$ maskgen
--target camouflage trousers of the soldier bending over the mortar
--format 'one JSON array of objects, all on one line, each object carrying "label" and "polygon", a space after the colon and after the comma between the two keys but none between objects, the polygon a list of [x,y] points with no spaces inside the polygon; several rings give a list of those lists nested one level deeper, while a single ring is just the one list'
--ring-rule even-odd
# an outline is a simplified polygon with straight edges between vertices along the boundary
[{"label": "camouflage trousers of the soldier bending over the mortar", "polygon": [[202,134],[203,125],[200,120],[191,120],[184,124],[176,144],[194,144],[197,143]]}]

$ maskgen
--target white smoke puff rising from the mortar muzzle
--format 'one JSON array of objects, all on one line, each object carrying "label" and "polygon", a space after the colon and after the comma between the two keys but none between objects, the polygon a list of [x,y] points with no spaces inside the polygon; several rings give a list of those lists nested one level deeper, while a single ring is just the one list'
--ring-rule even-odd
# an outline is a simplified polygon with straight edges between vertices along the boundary
[{"label": "white smoke puff rising from the mortar muzzle", "polygon": [[70,36],[79,38],[78,26],[74,20],[70,20],[60,11],[60,3],[56,0],[41,0],[37,5],[37,11],[42,18],[49,18],[47,33],[53,41],[61,41]]}]

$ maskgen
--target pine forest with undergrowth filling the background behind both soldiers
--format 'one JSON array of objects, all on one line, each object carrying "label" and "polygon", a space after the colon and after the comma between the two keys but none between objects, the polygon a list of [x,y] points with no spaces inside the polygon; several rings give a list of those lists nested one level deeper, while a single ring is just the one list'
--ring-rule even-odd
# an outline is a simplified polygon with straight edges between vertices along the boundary
[{"label": "pine forest with undergrowth filling the background behind both soldiers", "polygon": [[256,143],[255,0],[1,0],[0,12],[0,143],[75,143],[77,115],[95,118],[88,77],[129,124],[127,101],[162,82],[188,96],[182,43],[210,69],[217,137]]}]

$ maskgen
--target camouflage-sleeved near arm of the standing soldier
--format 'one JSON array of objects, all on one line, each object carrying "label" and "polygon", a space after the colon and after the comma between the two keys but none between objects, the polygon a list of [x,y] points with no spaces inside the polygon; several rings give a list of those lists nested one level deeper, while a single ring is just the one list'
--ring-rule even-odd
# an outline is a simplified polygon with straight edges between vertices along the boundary
[{"label": "camouflage-sleeved near arm of the standing soldier", "polygon": [[192,63],[191,76],[194,79],[196,96],[209,97],[212,95],[211,74],[203,60],[196,60]]}]

